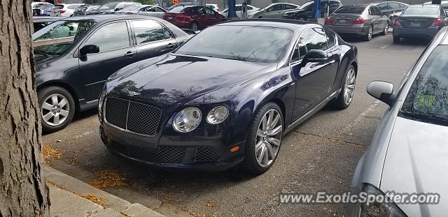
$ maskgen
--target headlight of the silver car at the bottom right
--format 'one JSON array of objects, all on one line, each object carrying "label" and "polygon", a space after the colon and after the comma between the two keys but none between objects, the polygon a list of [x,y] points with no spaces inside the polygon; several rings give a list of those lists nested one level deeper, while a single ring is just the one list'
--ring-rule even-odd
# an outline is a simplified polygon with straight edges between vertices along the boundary
[{"label": "headlight of the silver car at the bottom right", "polygon": [[[367,193],[368,197],[384,197],[387,196],[381,192],[378,188],[375,188],[371,184],[363,184],[362,191]],[[406,217],[405,214],[391,201],[384,202],[363,202],[360,204],[360,216],[361,217],[376,217],[376,216],[388,216],[388,217]]]}]

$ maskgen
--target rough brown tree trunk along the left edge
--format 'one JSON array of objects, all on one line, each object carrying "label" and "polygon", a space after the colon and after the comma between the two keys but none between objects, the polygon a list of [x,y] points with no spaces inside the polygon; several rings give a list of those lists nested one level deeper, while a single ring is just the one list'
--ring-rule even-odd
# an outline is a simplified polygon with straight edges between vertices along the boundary
[{"label": "rough brown tree trunk along the left edge", "polygon": [[0,1],[0,216],[49,216],[31,1]]}]

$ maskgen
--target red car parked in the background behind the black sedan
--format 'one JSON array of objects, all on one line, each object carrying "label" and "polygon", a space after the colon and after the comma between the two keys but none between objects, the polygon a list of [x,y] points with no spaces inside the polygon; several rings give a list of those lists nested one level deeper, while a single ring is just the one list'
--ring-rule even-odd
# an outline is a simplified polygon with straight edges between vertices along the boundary
[{"label": "red car parked in the background behind the black sedan", "polygon": [[225,17],[205,6],[182,6],[169,10],[163,15],[167,20],[179,28],[197,31],[225,21]]}]

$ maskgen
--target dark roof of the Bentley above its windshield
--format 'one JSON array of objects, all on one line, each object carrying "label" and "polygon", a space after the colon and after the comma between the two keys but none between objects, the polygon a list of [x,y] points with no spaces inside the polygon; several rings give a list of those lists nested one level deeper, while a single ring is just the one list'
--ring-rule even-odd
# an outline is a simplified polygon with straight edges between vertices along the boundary
[{"label": "dark roof of the Bentley above its windshield", "polygon": [[217,24],[217,26],[252,26],[252,27],[276,27],[283,29],[290,29],[292,31],[302,31],[303,29],[309,27],[321,27],[325,28],[319,24],[312,22],[304,22],[298,20],[286,20],[286,19],[248,19],[248,20],[231,20],[228,22],[222,22]]}]

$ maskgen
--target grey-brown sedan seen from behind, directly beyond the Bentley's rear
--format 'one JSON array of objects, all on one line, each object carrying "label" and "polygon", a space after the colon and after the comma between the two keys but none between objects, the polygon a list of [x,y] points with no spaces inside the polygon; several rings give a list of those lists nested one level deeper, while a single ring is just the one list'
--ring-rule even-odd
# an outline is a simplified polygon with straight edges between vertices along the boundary
[{"label": "grey-brown sedan seen from behind, directly beyond the Bentley's rear", "polygon": [[372,39],[375,33],[385,36],[388,33],[388,17],[372,4],[342,6],[325,20],[325,26],[339,34],[363,36]]}]

